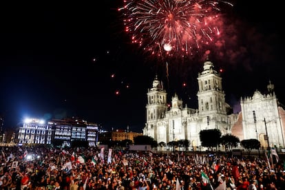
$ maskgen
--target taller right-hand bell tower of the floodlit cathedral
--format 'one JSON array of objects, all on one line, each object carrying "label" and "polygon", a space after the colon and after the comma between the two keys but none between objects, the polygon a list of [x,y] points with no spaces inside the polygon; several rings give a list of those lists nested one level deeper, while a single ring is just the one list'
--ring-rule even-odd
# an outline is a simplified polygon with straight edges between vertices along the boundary
[{"label": "taller right-hand bell tower of the floodlit cathedral", "polygon": [[198,107],[200,115],[226,115],[225,94],[222,90],[222,78],[213,69],[211,61],[205,61],[203,71],[198,75]]}]

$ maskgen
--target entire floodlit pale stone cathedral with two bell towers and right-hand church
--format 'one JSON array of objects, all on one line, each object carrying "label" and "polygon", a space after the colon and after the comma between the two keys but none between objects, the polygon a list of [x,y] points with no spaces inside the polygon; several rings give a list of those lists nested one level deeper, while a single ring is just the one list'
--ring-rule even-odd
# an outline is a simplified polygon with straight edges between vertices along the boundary
[{"label": "entire floodlit pale stone cathedral with two bell towers and right-hand church", "polygon": [[252,97],[241,98],[241,112],[233,114],[225,101],[222,77],[211,61],[205,61],[198,74],[198,108],[183,106],[175,94],[171,106],[167,92],[158,77],[147,92],[145,136],[158,143],[189,140],[189,146],[201,147],[200,131],[219,129],[222,136],[232,134],[240,140],[255,138],[263,148],[284,147],[285,112],[279,105],[274,85],[269,82],[268,92],[256,91]]}]

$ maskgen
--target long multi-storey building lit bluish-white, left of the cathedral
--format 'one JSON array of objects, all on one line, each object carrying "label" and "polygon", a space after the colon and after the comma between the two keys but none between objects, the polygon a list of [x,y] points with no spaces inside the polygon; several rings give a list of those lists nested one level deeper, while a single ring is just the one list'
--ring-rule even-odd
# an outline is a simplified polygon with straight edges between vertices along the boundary
[{"label": "long multi-storey building lit bluish-white, left of the cathedral", "polygon": [[52,119],[45,123],[37,119],[25,120],[19,127],[18,142],[21,144],[52,144],[60,141],[70,146],[73,140],[88,141],[95,147],[98,142],[98,125],[78,118]]}]

